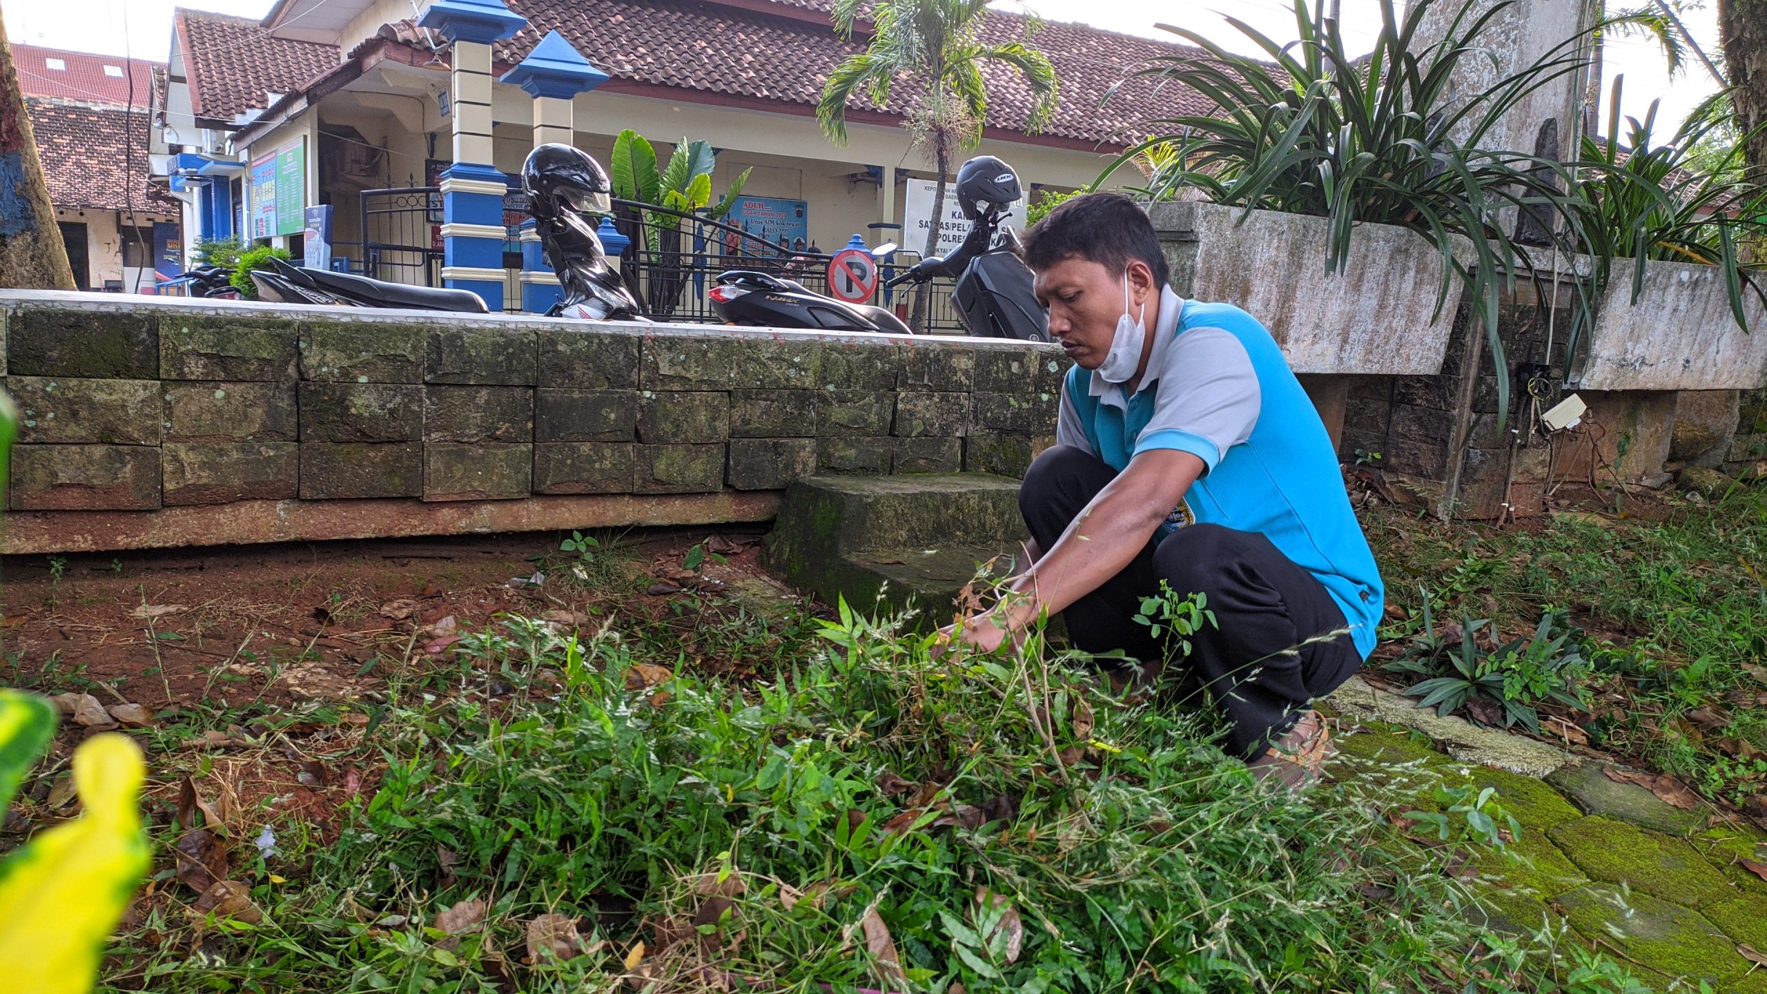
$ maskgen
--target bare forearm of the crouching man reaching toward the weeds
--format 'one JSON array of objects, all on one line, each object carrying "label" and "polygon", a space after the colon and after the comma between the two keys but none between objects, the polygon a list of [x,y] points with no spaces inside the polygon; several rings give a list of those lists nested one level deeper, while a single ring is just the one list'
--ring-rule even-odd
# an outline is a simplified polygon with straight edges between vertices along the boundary
[{"label": "bare forearm of the crouching man reaching toward the weeds", "polygon": [[1129,460],[1055,547],[1014,580],[1012,589],[1025,596],[1004,608],[1011,612],[1007,628],[1028,624],[1044,610],[1062,612],[1129,566],[1205,469],[1203,460],[1175,449]]}]

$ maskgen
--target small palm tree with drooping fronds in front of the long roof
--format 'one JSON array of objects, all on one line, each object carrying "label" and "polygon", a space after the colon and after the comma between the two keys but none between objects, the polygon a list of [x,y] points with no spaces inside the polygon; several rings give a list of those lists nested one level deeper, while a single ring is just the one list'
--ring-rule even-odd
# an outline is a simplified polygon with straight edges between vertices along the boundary
[{"label": "small palm tree with drooping fronds in front of the long roof", "polygon": [[[853,37],[853,25],[866,4],[868,0],[836,0],[834,30],[841,37]],[[908,110],[905,124],[912,141],[938,170],[926,255],[938,251],[938,218],[945,212],[945,177],[951,175],[951,161],[963,149],[981,141],[982,124],[988,119],[982,65],[990,62],[1011,65],[1025,78],[1032,96],[1027,133],[1041,131],[1055,115],[1055,67],[1048,57],[1023,41],[982,42],[981,28],[986,14],[988,0],[875,0],[869,44],[834,67],[816,104],[816,122],[822,124],[823,134],[845,145],[848,101],[864,94],[873,104],[884,106],[891,85],[898,80],[917,87],[917,103]],[[884,182],[892,182],[889,168],[884,170]],[[922,292],[915,299],[914,325],[924,327],[924,324]]]}]

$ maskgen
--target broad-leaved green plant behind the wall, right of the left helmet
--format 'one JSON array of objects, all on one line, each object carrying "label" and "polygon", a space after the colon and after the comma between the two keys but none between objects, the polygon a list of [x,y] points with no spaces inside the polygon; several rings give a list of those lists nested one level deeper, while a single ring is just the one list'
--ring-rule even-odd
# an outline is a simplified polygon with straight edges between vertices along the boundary
[{"label": "broad-leaved green plant behind the wall, right of the left helmet", "polygon": [[[691,214],[709,221],[724,218],[755,170],[753,166],[742,170],[714,203],[712,172],[717,168],[717,156],[709,141],[682,138],[670,152],[668,163],[659,170],[656,147],[633,129],[622,131],[613,140],[610,164],[613,196],[664,209],[627,209],[627,226],[634,228],[627,233],[633,235],[631,251],[634,256],[645,256],[657,264],[641,288],[645,308],[656,317],[668,317],[675,313],[687,281],[680,253],[682,216]],[[633,292],[640,292],[636,276],[636,272],[627,276]]]}]

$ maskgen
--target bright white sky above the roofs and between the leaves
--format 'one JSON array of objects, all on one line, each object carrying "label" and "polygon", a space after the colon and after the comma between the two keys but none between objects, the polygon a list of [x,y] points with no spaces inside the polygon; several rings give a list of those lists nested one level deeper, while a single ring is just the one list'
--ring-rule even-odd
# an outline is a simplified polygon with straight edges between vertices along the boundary
[{"label": "bright white sky above the roofs and between the leaves", "polygon": [[[1352,39],[1368,39],[1380,28],[1376,0],[1341,0],[1343,23]],[[171,44],[171,0],[0,0],[7,35],[27,44],[133,55],[164,60]],[[228,14],[263,16],[270,0],[186,0],[186,7]],[[1007,9],[1034,9],[1051,21],[1085,21],[1101,28],[1179,41],[1154,27],[1177,23],[1205,34],[1225,48],[1256,51],[1219,12],[1230,11],[1270,37],[1293,37],[1293,14],[1283,0],[998,0]],[[1723,67],[1718,48],[1716,2],[1705,0],[1684,16],[1707,55]],[[1654,97],[1663,97],[1659,126],[1666,131],[1695,104],[1718,90],[1696,58],[1670,80],[1661,50],[1643,37],[1612,39],[1606,53],[1608,78],[1626,74],[1622,111],[1643,117]],[[1606,92],[1603,96],[1606,120]]]}]

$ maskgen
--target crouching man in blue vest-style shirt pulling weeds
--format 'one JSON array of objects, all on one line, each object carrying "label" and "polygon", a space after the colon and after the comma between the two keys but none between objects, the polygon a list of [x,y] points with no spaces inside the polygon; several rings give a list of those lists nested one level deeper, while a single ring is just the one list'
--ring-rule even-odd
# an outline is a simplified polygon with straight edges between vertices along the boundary
[{"label": "crouching man in blue vest-style shirt pulling weeds", "polygon": [[1141,598],[1203,594],[1217,624],[1168,677],[1207,692],[1260,776],[1313,780],[1329,741],[1309,700],[1362,665],[1384,610],[1318,412],[1256,318],[1166,287],[1129,198],[1062,203],[1025,260],[1074,361],[1057,444],[1020,490],[1034,564],[1021,596],[945,635],[993,649],[1050,612],[1087,653],[1157,661]]}]

